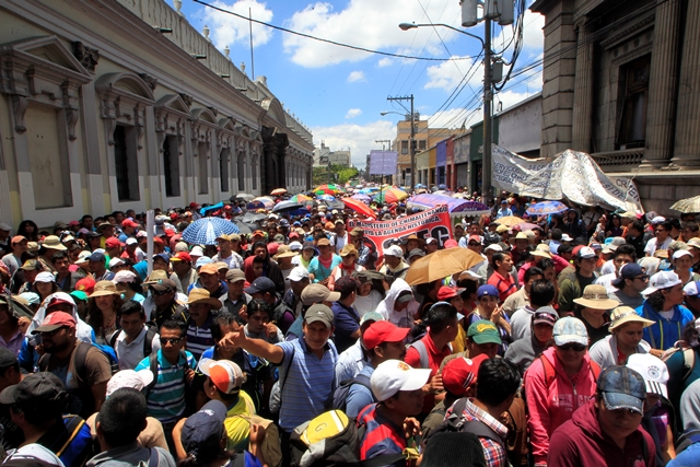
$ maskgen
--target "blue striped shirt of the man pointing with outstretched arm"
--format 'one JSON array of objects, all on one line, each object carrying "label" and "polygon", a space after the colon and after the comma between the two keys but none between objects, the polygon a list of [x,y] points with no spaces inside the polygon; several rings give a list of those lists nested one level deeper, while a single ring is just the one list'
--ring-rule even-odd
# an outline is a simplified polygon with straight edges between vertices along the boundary
[{"label": "blue striped shirt of the man pointing with outstretched arm", "polygon": [[322,359],[306,349],[303,338],[277,346],[284,351],[279,370],[280,427],[291,432],[324,412],[324,404],[337,386],[335,367],[338,352],[330,340]]}]

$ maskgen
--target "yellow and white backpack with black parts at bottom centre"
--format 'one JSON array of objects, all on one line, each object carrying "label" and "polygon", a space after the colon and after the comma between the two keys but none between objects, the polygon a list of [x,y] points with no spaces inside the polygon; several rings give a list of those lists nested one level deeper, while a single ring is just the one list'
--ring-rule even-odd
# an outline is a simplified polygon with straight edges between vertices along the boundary
[{"label": "yellow and white backpack with black parts at bottom centre", "polygon": [[358,424],[341,410],[329,410],[292,431],[292,466],[300,467],[380,467],[405,465],[404,454],[386,454],[360,460],[360,443],[366,425]]}]

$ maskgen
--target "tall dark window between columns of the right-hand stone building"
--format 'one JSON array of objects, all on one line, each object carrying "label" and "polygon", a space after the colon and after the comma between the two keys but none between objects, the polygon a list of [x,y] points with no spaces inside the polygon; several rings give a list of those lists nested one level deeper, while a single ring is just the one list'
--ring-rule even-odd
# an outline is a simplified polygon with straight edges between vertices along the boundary
[{"label": "tall dark window between columns of the right-hand stone building", "polygon": [[646,137],[646,102],[651,55],[620,67],[621,105],[617,149],[643,148]]}]

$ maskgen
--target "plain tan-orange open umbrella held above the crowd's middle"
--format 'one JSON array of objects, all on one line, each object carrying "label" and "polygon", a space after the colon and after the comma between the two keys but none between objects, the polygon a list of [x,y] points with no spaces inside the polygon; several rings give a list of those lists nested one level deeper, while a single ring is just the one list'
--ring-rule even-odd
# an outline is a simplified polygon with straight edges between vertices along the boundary
[{"label": "plain tan-orange open umbrella held above the crowd's middle", "polygon": [[481,261],[481,255],[467,248],[439,249],[413,261],[406,273],[406,282],[416,285],[444,279],[464,272]]}]

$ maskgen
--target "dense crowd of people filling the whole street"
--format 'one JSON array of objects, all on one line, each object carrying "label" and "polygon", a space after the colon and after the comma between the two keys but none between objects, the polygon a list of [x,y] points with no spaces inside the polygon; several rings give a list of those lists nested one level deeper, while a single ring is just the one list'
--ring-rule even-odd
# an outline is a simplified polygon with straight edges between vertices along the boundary
[{"label": "dense crowd of people filling the whole street", "polygon": [[[700,465],[695,214],[528,217],[529,201],[503,192],[448,240],[407,232],[378,252],[348,229],[363,217],[323,202],[256,210],[250,233],[210,245],[183,232],[245,202],[156,210],[152,235],[135,211],[0,224],[0,457]],[[450,248],[468,267],[407,282]]]}]

